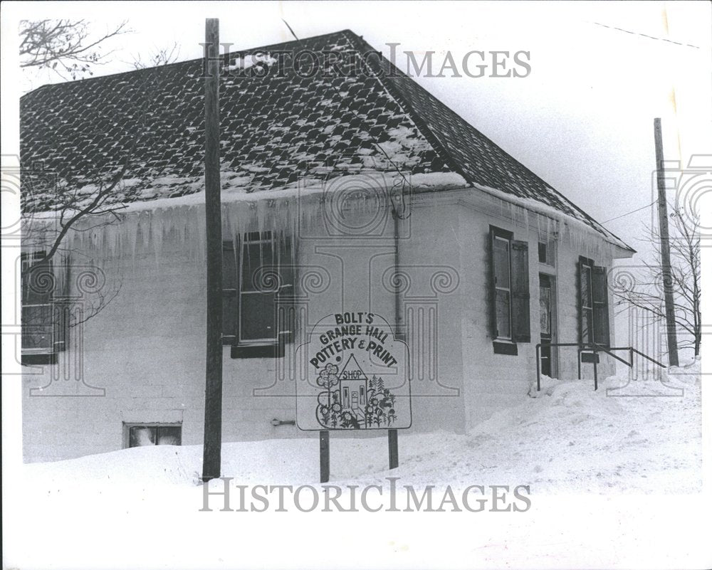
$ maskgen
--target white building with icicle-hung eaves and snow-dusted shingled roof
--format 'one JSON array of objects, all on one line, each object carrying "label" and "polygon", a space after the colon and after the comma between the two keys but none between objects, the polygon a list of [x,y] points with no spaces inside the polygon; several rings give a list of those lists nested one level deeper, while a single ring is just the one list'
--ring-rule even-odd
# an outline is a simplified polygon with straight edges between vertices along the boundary
[{"label": "white building with icicle-hung eaves and snow-dusted shingled roof", "polygon": [[[294,354],[325,315],[373,312],[407,342],[418,431],[463,432],[520,400],[540,342],[612,339],[606,272],[633,250],[370,49],[342,31],[224,65],[225,441],[308,435],[290,423]],[[202,443],[201,72],[175,63],[21,101],[28,461]],[[30,262],[70,218],[58,209],[88,204],[124,162],[107,202],[120,219],[74,223],[46,285]],[[545,348],[540,366],[575,377],[579,352]]]}]

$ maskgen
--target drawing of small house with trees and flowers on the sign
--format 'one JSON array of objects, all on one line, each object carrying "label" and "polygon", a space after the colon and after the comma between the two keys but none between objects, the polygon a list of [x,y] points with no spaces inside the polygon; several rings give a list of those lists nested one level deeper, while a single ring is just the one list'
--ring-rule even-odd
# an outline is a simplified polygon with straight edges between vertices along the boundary
[{"label": "drawing of small house with trees and flowers on the sign", "polygon": [[368,379],[353,354],[339,374],[335,364],[319,372],[316,418],[324,428],[377,429],[391,426],[397,419],[395,396],[382,378]]}]

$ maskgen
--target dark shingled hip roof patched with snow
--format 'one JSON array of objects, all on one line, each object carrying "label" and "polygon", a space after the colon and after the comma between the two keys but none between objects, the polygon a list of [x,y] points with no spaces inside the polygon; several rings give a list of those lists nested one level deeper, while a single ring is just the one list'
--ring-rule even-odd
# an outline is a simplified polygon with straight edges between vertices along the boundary
[{"label": "dark shingled hip roof patched with snow", "polygon": [[[202,74],[199,59],[33,90],[20,105],[23,169],[90,185],[128,159],[118,201],[201,191]],[[222,74],[224,184],[250,192],[367,171],[452,173],[614,237],[352,31],[231,53]],[[56,201],[23,178],[24,213]]]}]

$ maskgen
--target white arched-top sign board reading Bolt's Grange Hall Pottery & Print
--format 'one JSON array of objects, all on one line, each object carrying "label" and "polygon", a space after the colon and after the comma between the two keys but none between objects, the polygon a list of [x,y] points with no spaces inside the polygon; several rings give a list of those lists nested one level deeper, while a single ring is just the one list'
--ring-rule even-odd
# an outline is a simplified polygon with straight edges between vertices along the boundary
[{"label": "white arched-top sign board reading Bolt's Grange Hall Pottery & Print", "polygon": [[404,429],[411,425],[408,347],[372,312],[324,317],[298,349],[302,430]]}]

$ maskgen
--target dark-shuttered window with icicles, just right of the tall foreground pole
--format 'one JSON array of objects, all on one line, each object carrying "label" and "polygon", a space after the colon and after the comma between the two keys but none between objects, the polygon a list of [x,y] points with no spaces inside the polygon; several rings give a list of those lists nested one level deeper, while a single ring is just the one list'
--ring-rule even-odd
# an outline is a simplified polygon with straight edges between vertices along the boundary
[{"label": "dark-shuttered window with icicles, just right of the tall foreground pole", "polygon": [[293,333],[290,241],[270,231],[223,242],[223,342],[232,355],[268,357]]}]

